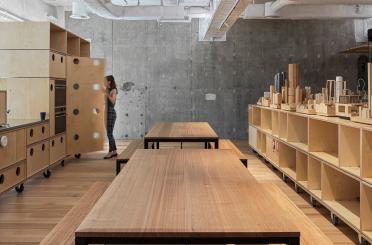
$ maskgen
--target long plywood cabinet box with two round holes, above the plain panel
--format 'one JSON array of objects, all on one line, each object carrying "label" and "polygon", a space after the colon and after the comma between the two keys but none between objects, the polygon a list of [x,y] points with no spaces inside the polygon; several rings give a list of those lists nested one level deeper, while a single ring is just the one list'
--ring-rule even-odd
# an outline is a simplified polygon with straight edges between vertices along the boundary
[{"label": "long plywood cabinet box with two round holes, above the plain panel", "polygon": [[66,56],[49,50],[0,50],[1,77],[66,78]]}]

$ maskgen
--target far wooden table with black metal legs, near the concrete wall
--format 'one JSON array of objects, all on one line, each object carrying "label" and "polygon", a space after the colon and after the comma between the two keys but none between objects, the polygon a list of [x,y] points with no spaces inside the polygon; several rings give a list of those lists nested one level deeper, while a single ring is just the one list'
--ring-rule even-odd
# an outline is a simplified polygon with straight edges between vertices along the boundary
[{"label": "far wooden table with black metal legs, near the concrete wall", "polygon": [[214,143],[218,149],[218,135],[207,122],[156,123],[144,137],[144,148],[149,143],[159,142],[204,142],[205,148]]}]

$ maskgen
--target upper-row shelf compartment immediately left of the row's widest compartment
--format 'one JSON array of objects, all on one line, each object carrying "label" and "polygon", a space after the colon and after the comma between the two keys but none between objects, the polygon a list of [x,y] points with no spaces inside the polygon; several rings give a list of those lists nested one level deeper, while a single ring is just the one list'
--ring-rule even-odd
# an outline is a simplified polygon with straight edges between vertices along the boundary
[{"label": "upper-row shelf compartment immediately left of the row's widest compartment", "polygon": [[296,147],[308,150],[308,118],[288,114],[288,142]]}]

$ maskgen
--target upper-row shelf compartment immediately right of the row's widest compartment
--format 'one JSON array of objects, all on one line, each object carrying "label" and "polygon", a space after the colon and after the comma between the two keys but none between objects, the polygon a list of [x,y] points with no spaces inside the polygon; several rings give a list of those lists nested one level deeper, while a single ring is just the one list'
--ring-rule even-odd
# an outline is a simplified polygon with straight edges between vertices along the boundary
[{"label": "upper-row shelf compartment immediately right of the row's widest compartment", "polygon": [[340,167],[360,176],[360,129],[340,125],[338,152]]}]

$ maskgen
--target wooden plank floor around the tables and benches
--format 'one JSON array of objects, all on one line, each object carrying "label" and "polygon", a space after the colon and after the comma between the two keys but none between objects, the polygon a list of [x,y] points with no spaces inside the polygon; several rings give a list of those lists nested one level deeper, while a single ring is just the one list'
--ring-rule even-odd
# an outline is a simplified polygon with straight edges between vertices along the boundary
[{"label": "wooden plank floor around the tables and benches", "polygon": [[[249,150],[247,142],[235,143],[247,154],[247,171],[258,181],[276,184],[335,244],[357,244],[355,232],[342,223],[333,226],[325,208],[312,208],[309,196],[297,194],[293,184],[284,183],[279,172]],[[118,142],[119,151],[127,145],[128,141]],[[26,182],[22,194],[14,190],[2,194],[0,244],[38,244],[95,181],[111,182],[115,177],[115,160],[101,160],[103,156],[104,152],[96,152],[83,155],[80,160],[70,159],[65,167],[55,166],[49,179],[38,175]]]}]

